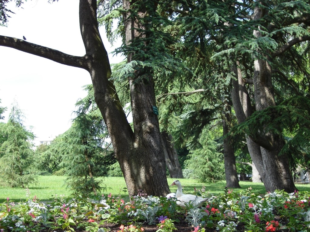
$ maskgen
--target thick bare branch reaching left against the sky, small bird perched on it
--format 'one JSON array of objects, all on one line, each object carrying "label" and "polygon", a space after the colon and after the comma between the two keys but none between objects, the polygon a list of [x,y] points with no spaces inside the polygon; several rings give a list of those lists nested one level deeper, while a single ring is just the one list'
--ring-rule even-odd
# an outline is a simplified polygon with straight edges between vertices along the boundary
[{"label": "thick bare branch reaching left against the sky, small bird perched on it", "polygon": [[37,55],[49,60],[58,62],[60,64],[69,65],[87,70],[88,57],[86,56],[72,56],[65,54],[55,49],[47,48],[41,45],[29,43],[27,41],[17,39],[14,37],[7,37],[0,35],[0,46],[10,47],[22,52],[27,52]]}]

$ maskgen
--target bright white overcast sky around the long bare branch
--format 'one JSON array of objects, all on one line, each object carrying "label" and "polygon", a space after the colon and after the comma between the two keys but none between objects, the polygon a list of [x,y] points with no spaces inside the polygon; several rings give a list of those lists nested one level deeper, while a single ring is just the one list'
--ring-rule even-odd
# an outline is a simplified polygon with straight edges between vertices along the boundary
[{"label": "bright white overcast sky around the long bare branch", "polygon": [[[79,28],[78,0],[32,0],[23,8],[14,8],[7,27],[0,26],[0,35],[22,39],[64,53],[82,56],[85,48]],[[109,53],[110,63],[122,58],[113,57],[111,45],[101,37]],[[12,48],[0,46],[0,105],[7,107],[4,122],[14,101],[24,111],[26,126],[38,139],[45,140],[64,133],[71,126],[72,112],[79,98],[86,96],[82,86],[91,84],[87,71],[62,65]],[[3,120],[2,120],[3,121]]]}]

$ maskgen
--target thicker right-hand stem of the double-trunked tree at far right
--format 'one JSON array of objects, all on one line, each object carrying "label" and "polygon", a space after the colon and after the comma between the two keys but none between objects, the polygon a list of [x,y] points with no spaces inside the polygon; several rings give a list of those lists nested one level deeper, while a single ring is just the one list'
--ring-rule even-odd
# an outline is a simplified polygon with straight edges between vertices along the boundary
[{"label": "thicker right-hand stem of the double-trunked tree at far right", "polygon": [[[263,14],[262,9],[255,7],[254,20],[260,19]],[[253,34],[257,38],[261,37],[259,30],[254,30]],[[266,59],[268,60],[268,57]],[[254,61],[253,83],[256,110],[264,110],[268,106],[276,105],[273,94],[271,67],[262,58]],[[272,133],[272,131],[262,129],[260,133],[261,138],[256,142],[261,146],[263,167],[266,172],[263,179],[266,191],[284,189],[287,192],[294,192],[296,187],[290,171],[288,156],[286,153],[279,156],[285,144],[284,139]]]}]

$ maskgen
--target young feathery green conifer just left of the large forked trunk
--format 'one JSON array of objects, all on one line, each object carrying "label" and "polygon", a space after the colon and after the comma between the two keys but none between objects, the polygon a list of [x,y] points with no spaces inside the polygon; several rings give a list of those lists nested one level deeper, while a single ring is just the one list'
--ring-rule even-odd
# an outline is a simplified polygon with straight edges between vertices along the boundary
[{"label": "young feathery green conifer just left of the large forked trunk", "polygon": [[96,195],[101,189],[98,177],[106,173],[105,164],[109,162],[104,160],[105,154],[113,152],[105,142],[108,134],[94,101],[92,85],[85,86],[85,90],[88,94],[76,103],[72,126],[48,146],[43,157],[47,163],[52,161],[58,169],[62,168],[59,171],[68,176],[67,185],[75,193]]}]

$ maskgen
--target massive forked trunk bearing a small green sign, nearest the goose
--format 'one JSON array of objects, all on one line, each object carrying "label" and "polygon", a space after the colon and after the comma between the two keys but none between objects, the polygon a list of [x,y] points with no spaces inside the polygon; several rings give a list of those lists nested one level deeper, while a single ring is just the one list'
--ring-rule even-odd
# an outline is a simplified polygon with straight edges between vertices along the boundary
[{"label": "massive forked trunk bearing a small green sign, nearest the goose", "polygon": [[[124,6],[126,4],[129,2],[124,1]],[[158,118],[152,109],[152,105],[155,105],[153,78],[146,75],[143,81],[129,81],[133,132],[122,110],[114,84],[109,80],[111,69],[98,31],[96,16],[96,1],[81,0],[82,38],[86,55],[94,57],[89,72],[94,86],[95,101],[108,128],[128,193],[133,196],[142,190],[148,195],[166,195],[170,190],[165,176]],[[129,38],[134,39],[136,35],[133,35],[131,20],[124,21],[126,40],[129,41]]]}]

